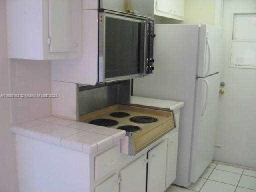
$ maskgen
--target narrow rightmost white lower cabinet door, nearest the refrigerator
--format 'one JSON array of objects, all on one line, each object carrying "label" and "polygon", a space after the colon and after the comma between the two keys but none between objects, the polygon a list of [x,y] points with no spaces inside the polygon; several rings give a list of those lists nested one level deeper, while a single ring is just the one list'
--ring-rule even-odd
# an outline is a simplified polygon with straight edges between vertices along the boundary
[{"label": "narrow rightmost white lower cabinet door, nearest the refrigerator", "polygon": [[168,138],[167,144],[167,164],[166,164],[166,188],[176,179],[178,152],[178,132]]}]

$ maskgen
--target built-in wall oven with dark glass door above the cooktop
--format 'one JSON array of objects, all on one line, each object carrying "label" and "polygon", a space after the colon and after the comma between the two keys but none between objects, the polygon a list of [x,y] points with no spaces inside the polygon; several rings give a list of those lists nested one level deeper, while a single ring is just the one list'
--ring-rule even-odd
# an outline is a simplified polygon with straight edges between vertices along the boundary
[{"label": "built-in wall oven with dark glass door above the cooktop", "polygon": [[147,15],[123,10],[99,9],[99,82],[131,79],[154,70],[154,19],[148,16],[153,15],[153,5]]}]

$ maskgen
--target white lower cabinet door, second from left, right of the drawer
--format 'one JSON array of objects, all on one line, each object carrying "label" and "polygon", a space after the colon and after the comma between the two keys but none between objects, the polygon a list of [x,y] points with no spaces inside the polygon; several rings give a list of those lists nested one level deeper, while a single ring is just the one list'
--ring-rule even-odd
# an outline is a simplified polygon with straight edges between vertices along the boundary
[{"label": "white lower cabinet door, second from left, right of the drawer", "polygon": [[146,164],[146,155],[144,154],[120,170],[120,192],[145,192]]}]

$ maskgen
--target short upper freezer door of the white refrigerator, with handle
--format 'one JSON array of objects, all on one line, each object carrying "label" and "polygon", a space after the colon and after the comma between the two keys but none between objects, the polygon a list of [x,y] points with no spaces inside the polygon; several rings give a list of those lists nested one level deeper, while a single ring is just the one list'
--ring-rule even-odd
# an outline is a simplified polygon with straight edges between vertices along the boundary
[{"label": "short upper freezer door of the white refrigerator, with handle", "polygon": [[222,29],[202,24],[199,38],[198,76],[205,77],[220,71]]}]

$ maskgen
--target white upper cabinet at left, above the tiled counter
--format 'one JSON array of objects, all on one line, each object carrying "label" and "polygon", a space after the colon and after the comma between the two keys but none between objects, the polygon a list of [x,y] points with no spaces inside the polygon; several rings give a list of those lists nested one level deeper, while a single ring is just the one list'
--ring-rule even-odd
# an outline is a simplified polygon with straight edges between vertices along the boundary
[{"label": "white upper cabinet at left, above the tiled counter", "polygon": [[7,0],[9,58],[81,57],[81,0]]}]

